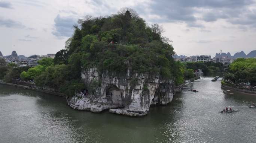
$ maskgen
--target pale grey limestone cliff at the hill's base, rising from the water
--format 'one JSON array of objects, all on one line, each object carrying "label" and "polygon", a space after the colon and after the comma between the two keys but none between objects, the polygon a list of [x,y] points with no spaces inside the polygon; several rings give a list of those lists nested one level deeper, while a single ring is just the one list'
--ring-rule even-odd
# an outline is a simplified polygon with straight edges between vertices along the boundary
[{"label": "pale grey limestone cliff at the hill's base, rising from the water", "polygon": [[93,95],[68,99],[73,109],[109,112],[143,116],[150,105],[167,105],[175,93],[173,80],[161,79],[159,74],[132,73],[128,69],[125,75],[104,72],[99,75],[97,68],[87,69],[81,74],[85,83],[98,82],[100,85]]}]

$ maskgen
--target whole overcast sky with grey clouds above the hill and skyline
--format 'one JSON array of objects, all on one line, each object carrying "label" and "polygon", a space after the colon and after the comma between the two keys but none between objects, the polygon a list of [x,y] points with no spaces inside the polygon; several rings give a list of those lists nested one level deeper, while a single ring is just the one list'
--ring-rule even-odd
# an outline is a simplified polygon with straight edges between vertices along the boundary
[{"label": "whole overcast sky with grey clouds above the hill and skyline", "polygon": [[136,10],[149,25],[162,25],[178,55],[256,50],[255,0],[0,0],[0,51],[56,53],[77,19],[123,7]]}]

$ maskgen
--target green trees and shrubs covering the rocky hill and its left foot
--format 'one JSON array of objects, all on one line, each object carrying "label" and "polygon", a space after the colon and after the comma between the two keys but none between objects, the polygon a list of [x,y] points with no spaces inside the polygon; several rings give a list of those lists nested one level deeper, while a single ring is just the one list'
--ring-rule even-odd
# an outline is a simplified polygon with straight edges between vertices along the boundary
[{"label": "green trees and shrubs covering the rocky hill and its left foot", "polygon": [[121,9],[107,17],[85,16],[78,20],[73,36],[53,61],[45,58],[20,77],[34,80],[38,86],[54,87],[67,95],[99,85],[84,85],[81,81],[81,71],[90,67],[119,76],[125,76],[131,68],[132,72],[160,73],[162,79],[183,83],[185,67],[173,60],[171,41],[163,37],[162,32],[161,26],[148,26],[132,9]]}]

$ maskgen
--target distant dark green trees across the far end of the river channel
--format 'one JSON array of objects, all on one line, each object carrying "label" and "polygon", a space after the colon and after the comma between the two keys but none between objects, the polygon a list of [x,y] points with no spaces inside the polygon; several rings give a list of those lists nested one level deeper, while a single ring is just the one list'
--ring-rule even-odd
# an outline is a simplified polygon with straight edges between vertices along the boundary
[{"label": "distant dark green trees across the far end of the river channel", "polygon": [[224,65],[222,63],[213,62],[187,62],[185,63],[186,69],[201,69],[204,72],[204,76],[223,76]]}]

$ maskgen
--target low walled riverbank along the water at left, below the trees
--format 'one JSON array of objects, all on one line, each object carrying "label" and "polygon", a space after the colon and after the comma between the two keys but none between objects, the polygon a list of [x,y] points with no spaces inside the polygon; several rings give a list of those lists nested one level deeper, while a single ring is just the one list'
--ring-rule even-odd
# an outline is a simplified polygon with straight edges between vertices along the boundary
[{"label": "low walled riverbank along the water at left, below the trees", "polygon": [[[31,88],[31,86],[25,86],[25,85],[13,84],[13,83],[6,83],[6,82],[2,82],[2,81],[0,81],[0,84],[2,84],[2,85],[9,85],[9,86],[15,86],[15,87],[22,88],[22,89],[30,89],[30,90],[34,90],[34,91],[38,91],[38,92],[43,92],[43,93],[48,93],[48,94],[51,94],[51,95],[57,95],[57,96],[66,98],[66,96],[63,93],[53,92],[53,91],[47,90],[47,89]],[[33,87],[36,87],[36,86],[33,86]]]}]

